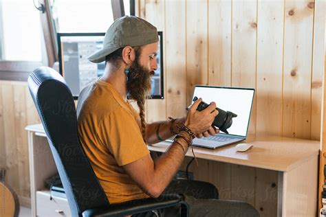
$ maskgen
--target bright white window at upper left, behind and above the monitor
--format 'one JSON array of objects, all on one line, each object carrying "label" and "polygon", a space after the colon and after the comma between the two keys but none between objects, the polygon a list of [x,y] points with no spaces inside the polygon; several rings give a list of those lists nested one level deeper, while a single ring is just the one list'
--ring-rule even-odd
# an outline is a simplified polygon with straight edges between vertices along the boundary
[{"label": "bright white window at upper left, behind and above the monitor", "polygon": [[[0,80],[25,81],[36,67],[52,67],[57,55],[56,32],[106,32],[113,23],[111,0],[40,1],[50,5],[51,21],[32,1],[0,0]],[[124,0],[125,14],[130,14],[134,1]],[[39,0],[34,3],[40,6]]]}]

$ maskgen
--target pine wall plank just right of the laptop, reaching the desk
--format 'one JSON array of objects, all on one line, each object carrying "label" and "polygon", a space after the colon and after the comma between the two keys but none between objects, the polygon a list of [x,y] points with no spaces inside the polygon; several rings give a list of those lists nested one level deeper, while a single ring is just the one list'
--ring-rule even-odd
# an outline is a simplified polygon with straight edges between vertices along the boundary
[{"label": "pine wall plank just right of the laptop, reaching the desk", "polygon": [[257,135],[282,135],[284,1],[258,1]]}]

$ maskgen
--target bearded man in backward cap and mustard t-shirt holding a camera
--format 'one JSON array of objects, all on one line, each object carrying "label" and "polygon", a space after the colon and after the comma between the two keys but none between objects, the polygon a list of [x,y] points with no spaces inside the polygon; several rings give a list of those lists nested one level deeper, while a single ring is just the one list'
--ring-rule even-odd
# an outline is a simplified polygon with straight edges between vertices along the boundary
[{"label": "bearded man in backward cap and mustard t-shirt holding a camera", "polygon": [[[184,194],[191,216],[259,216],[248,203],[217,200],[217,189],[209,183],[171,182],[193,138],[218,133],[211,126],[218,112],[215,102],[204,111],[196,111],[202,101],[199,99],[186,117],[146,124],[144,103],[151,90],[151,76],[157,69],[157,41],[157,30],[151,23],[124,16],[107,30],[103,49],[89,56],[91,62],[105,60],[106,67],[103,76],[80,93],[78,134],[109,202],[157,198],[165,190]],[[127,95],[137,102],[139,114],[127,101]],[[174,135],[168,150],[154,161],[146,144]],[[189,196],[187,192],[195,194]],[[210,196],[202,192],[210,192]],[[177,208],[169,208],[138,216],[178,213]]]}]

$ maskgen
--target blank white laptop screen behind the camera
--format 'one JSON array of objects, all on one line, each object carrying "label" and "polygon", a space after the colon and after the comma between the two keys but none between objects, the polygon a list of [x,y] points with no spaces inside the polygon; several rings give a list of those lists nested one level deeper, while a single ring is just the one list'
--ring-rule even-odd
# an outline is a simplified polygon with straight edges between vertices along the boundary
[{"label": "blank white laptop screen behind the camera", "polygon": [[228,133],[246,137],[254,89],[196,86],[193,96],[202,98],[207,104],[215,102],[219,109],[237,114],[237,117],[232,118],[232,126],[228,128]]}]

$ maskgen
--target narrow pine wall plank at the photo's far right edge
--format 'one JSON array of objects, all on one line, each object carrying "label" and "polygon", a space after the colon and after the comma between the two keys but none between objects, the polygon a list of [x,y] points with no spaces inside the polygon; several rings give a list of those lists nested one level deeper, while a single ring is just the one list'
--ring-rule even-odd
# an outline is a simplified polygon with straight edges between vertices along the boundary
[{"label": "narrow pine wall plank at the photo's far right edge", "polygon": [[312,128],[311,139],[320,139],[321,101],[323,95],[325,43],[325,1],[316,0],[314,6],[314,47],[312,58]]}]

